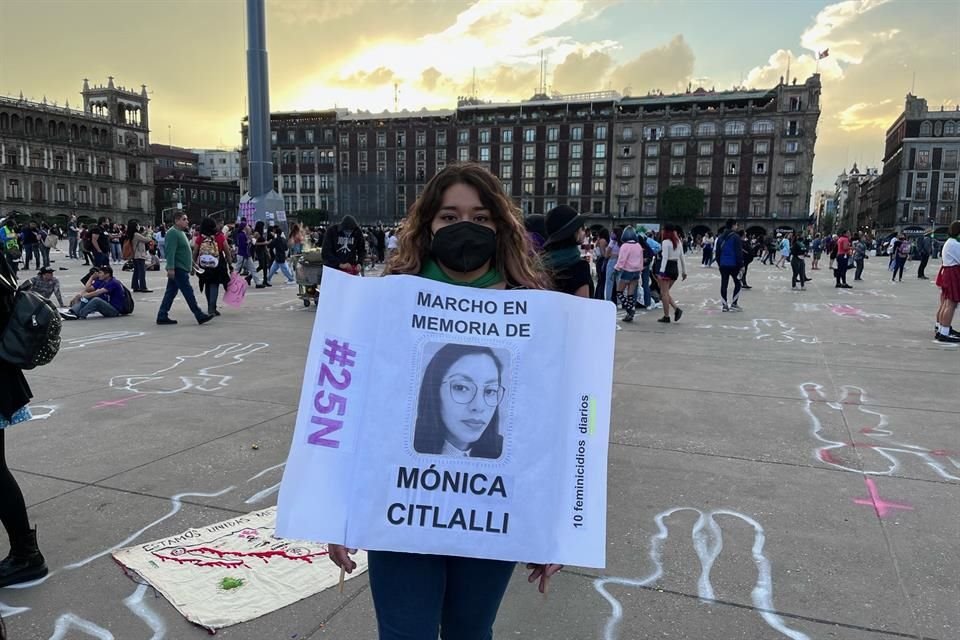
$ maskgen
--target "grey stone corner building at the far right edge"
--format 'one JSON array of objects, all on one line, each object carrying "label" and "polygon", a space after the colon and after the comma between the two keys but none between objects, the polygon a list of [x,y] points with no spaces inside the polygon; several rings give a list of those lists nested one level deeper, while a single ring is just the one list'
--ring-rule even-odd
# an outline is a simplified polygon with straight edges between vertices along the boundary
[{"label": "grey stone corner building at the far right edge", "polygon": [[878,226],[945,232],[958,218],[960,107],[930,110],[907,94],[903,113],[887,129],[879,184]]}]

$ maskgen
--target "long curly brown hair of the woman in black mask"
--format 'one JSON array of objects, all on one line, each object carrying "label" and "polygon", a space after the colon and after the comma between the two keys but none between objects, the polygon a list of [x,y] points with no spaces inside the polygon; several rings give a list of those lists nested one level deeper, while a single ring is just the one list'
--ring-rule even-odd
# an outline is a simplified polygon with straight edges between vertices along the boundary
[{"label": "long curly brown hair of the woman in black mask", "polygon": [[490,217],[497,227],[494,265],[507,284],[526,289],[548,288],[549,278],[539,258],[531,251],[520,210],[504,193],[497,177],[474,163],[448,165],[430,179],[423,193],[410,207],[398,236],[399,247],[384,274],[420,273],[424,260],[430,255],[433,218],[443,205],[443,194],[455,184],[476,189],[480,202],[490,211]]}]

